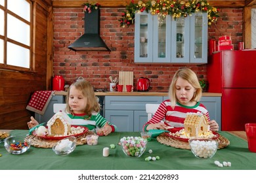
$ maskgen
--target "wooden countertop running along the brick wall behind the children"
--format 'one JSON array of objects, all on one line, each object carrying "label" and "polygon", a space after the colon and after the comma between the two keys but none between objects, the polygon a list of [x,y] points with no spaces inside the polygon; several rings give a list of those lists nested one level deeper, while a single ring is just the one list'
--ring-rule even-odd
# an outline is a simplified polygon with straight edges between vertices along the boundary
[{"label": "wooden countertop running along the brick wall behind the children", "polygon": [[[55,91],[54,95],[67,95],[64,91]],[[167,92],[95,92],[97,96],[168,96]],[[203,92],[203,97],[221,97],[221,93]]]}]

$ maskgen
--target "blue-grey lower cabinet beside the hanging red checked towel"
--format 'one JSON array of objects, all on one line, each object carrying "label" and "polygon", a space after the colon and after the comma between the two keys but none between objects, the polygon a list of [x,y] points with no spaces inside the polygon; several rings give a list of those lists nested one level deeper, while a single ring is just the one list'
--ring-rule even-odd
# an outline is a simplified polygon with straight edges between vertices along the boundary
[{"label": "blue-grey lower cabinet beside the hanging red checked towel", "polygon": [[51,98],[51,101],[47,105],[47,108],[45,110],[45,114],[41,115],[35,112],[35,120],[39,122],[39,124],[48,122],[51,117],[53,117],[53,104],[54,103],[65,103],[65,95],[53,95]]}]

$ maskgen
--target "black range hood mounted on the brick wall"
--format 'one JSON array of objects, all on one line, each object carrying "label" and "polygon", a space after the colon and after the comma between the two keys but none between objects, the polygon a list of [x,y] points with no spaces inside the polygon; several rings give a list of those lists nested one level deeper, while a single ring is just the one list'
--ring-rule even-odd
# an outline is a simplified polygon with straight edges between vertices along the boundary
[{"label": "black range hood mounted on the brick wall", "polygon": [[84,18],[85,33],[73,44],[68,46],[74,51],[109,51],[110,48],[100,37],[100,10],[92,10],[91,13],[85,12]]}]

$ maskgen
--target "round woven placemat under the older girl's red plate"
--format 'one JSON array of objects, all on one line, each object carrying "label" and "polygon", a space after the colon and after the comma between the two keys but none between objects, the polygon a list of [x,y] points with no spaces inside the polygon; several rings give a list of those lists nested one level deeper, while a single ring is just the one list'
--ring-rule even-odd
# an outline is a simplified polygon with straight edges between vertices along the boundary
[{"label": "round woven placemat under the older girl's red plate", "polygon": [[[166,135],[165,133],[161,133],[161,135],[156,137],[156,139],[161,144],[165,144],[167,146],[190,150],[190,146],[189,146],[188,142],[179,141],[178,139],[173,139],[173,138],[169,137],[168,135]],[[224,148],[230,144],[228,139],[226,139],[226,137],[223,137],[222,135],[219,135],[219,138],[216,139],[216,141],[219,142],[218,149]]]}]

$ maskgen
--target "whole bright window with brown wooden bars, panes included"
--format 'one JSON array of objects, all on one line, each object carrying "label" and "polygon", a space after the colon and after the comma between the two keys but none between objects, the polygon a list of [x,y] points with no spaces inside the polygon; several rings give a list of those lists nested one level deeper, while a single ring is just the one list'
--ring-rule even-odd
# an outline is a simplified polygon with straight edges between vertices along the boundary
[{"label": "whole bright window with brown wooden bars, panes included", "polygon": [[29,71],[32,61],[32,3],[0,0],[0,68]]}]

